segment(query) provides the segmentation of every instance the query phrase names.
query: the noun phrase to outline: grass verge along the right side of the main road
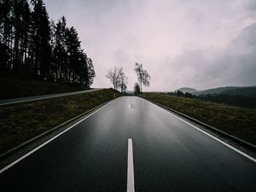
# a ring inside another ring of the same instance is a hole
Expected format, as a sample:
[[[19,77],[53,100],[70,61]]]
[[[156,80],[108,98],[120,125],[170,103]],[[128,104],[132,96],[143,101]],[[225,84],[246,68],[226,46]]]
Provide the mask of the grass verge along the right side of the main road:
[[[256,144],[256,109],[157,93],[146,93],[145,96],[148,100],[159,102],[230,135]]]

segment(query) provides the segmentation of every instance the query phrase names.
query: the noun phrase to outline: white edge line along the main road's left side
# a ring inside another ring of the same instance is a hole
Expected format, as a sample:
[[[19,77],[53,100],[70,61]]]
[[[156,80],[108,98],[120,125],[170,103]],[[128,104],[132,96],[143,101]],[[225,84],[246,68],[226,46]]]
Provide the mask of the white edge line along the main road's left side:
[[[113,102],[113,101],[112,101]],[[106,105],[104,105],[102,108],[106,108],[110,103],[112,102],[108,102]],[[32,149],[32,151],[28,152],[27,154],[24,154],[23,156],[21,156],[19,159],[15,160],[14,162],[10,163],[8,166],[3,167],[3,169],[0,170],[0,174],[5,172],[6,170],[8,170],[10,167],[15,166],[15,164],[19,163],[20,160],[24,160],[26,157],[28,157],[29,155],[33,154],[34,152],[36,152],[39,148],[43,148],[44,145],[50,143],[51,141],[55,140],[55,138],[60,137],[63,133],[69,131],[70,129],[72,129],[75,125],[78,125],[79,123],[81,123],[82,121],[84,121],[85,119],[89,118],[91,115],[97,113],[98,111],[102,110],[102,108],[97,109],[95,112],[90,113],[88,116],[86,116],[84,119],[79,120],[79,122],[75,123],[74,125],[71,125],[70,127],[68,127],[66,130],[62,131],[61,133],[59,133],[58,135],[56,135],[55,137],[50,138],[48,141],[46,141],[45,143],[39,145],[37,148]]]

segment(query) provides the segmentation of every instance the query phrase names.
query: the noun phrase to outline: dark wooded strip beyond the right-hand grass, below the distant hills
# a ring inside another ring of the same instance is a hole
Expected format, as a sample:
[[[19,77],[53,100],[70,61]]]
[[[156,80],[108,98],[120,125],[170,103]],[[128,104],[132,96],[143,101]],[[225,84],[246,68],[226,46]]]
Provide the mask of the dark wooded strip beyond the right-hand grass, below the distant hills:
[[[254,96],[241,96],[241,95],[229,95],[229,94],[205,94],[195,96],[191,93],[183,93],[180,90],[174,92],[166,92],[165,95],[169,96],[182,96],[186,98],[195,98],[208,102],[218,102],[229,105],[236,105],[243,108],[256,108],[256,95]]]

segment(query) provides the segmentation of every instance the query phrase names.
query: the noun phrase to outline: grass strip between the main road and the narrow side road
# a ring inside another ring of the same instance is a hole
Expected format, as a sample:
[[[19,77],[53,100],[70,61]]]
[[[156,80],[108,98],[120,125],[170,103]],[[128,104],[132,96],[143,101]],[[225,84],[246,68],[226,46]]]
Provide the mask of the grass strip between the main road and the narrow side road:
[[[0,154],[121,94],[113,89],[0,107]]]

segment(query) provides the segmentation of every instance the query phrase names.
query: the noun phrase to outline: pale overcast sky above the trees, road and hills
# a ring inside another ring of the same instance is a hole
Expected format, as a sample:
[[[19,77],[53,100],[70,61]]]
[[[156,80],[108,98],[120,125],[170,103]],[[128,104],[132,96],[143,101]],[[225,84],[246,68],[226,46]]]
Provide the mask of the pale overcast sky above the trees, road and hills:
[[[151,76],[144,90],[256,85],[256,0],[44,0],[67,18],[92,58],[92,87],[111,87],[109,68],[135,62]]]

